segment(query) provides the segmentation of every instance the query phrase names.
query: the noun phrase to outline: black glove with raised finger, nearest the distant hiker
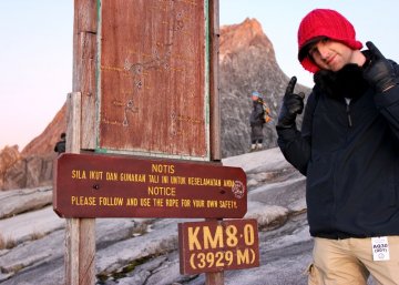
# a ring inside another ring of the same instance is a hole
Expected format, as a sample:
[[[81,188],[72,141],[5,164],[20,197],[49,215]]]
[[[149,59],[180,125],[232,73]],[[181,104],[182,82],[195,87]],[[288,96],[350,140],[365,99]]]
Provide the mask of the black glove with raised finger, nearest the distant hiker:
[[[276,128],[289,129],[296,126],[295,119],[297,114],[304,111],[304,98],[303,92],[294,94],[294,88],[296,84],[296,77],[293,77],[287,85],[286,93],[283,98],[283,105],[278,114],[278,121]]]

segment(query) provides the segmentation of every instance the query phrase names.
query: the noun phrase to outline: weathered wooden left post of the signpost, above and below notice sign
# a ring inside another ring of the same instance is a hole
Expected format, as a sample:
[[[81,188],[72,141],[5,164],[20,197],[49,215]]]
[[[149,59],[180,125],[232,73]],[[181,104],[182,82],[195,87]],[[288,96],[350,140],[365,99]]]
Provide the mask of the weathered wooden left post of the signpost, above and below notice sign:
[[[66,152],[71,153],[93,149],[95,142],[96,3],[74,0],[73,92],[68,94],[66,119]],[[65,284],[95,284],[94,257],[95,218],[66,218]]]

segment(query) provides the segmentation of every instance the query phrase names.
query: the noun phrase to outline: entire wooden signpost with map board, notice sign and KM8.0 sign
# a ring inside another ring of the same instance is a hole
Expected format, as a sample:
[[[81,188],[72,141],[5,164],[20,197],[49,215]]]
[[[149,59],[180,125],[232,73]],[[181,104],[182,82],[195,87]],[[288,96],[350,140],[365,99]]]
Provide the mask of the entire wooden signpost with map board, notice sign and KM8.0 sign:
[[[96,217],[178,225],[182,274],[258,266],[246,176],[219,161],[218,0],[74,0],[73,88],[53,207],[65,283],[95,283]],[[205,257],[205,259],[204,259]]]

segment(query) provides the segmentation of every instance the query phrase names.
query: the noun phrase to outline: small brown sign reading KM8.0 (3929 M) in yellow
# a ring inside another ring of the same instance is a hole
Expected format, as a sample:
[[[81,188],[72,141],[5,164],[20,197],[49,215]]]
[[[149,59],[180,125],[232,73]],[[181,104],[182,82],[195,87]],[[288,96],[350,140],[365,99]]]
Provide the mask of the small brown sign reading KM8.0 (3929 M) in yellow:
[[[256,220],[181,223],[178,244],[182,274],[259,266]]]

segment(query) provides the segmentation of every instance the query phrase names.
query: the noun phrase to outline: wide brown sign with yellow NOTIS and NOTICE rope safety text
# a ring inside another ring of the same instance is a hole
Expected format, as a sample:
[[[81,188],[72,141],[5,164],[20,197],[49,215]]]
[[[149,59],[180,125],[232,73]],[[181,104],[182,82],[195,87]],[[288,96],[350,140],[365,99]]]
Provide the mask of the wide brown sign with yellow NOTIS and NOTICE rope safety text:
[[[132,156],[64,153],[53,208],[62,217],[243,217],[239,167]]]

